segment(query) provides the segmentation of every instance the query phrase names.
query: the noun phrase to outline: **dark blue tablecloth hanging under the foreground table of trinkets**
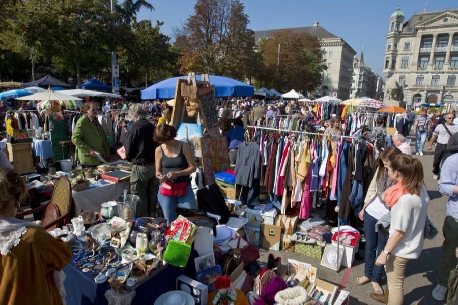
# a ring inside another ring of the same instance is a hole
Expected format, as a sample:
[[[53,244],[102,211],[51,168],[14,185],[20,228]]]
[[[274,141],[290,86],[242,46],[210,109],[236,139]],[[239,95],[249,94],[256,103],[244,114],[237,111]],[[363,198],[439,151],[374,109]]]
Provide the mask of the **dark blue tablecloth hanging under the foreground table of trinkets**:
[[[197,251],[193,250],[184,268],[168,266],[156,275],[142,280],[135,287],[135,297],[132,304],[144,305],[153,304],[154,301],[163,293],[175,290],[177,277],[184,274],[190,278],[195,277],[194,258],[198,256]],[[65,292],[67,293],[68,305],[85,305],[85,304],[108,304],[105,298],[105,292],[111,288],[110,284],[96,284],[91,272],[84,273],[80,268],[74,267],[73,260],[64,268],[66,279],[64,281]]]

